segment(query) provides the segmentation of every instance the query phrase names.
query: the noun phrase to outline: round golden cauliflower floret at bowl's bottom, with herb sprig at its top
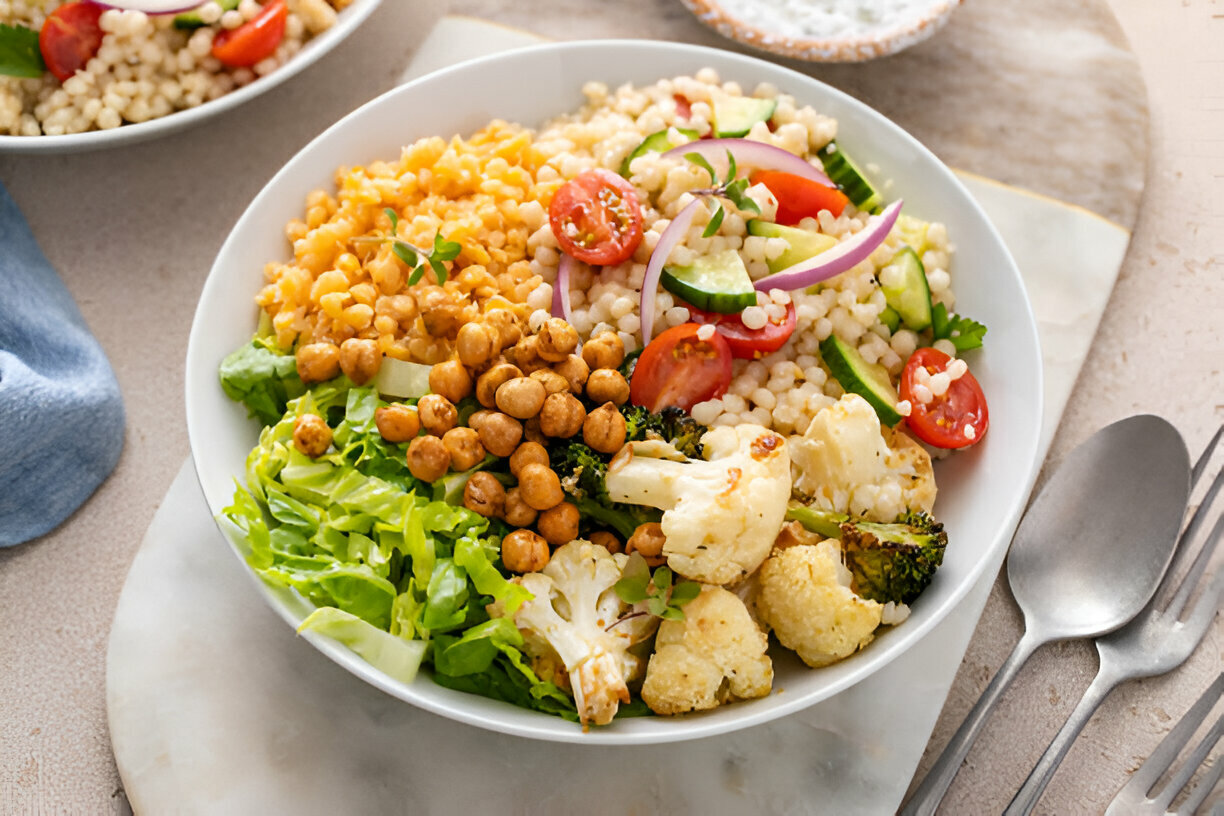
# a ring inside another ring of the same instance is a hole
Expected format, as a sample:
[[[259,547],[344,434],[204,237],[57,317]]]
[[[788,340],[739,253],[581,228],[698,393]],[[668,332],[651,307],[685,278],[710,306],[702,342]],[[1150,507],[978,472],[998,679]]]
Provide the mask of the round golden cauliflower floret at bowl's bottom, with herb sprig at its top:
[[[764,697],[774,685],[767,646],[743,601],[705,586],[684,606],[684,620],[659,626],[641,699],[656,714],[681,714]]]

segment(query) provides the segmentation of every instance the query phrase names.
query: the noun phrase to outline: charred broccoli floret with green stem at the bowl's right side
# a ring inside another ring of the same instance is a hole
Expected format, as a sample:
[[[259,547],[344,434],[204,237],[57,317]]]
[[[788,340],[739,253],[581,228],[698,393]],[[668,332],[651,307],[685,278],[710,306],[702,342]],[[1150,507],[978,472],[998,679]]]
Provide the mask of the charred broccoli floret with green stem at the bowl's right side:
[[[826,538],[840,538],[852,588],[880,603],[909,603],[944,562],[947,533],[925,513],[907,513],[892,524],[862,521],[841,513],[792,503],[787,519]]]

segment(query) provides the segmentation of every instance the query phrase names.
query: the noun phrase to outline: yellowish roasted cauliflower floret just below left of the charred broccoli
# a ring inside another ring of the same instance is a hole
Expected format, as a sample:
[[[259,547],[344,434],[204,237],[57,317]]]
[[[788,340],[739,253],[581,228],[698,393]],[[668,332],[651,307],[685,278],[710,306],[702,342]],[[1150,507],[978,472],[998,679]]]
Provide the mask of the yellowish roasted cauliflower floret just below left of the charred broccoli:
[[[776,549],[761,564],[756,612],[778,642],[818,668],[871,642],[884,607],[851,591],[836,541],[810,540],[816,543]]]

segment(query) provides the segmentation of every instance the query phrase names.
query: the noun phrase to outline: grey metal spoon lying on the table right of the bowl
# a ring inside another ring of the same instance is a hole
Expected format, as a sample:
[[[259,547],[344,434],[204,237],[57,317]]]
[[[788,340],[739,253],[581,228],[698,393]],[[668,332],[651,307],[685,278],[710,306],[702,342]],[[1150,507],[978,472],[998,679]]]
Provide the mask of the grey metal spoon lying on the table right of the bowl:
[[[1095,637],[1138,614],[1169,564],[1189,498],[1186,443],[1157,416],[1102,428],[1062,460],[1007,555],[1024,635],[901,816],[935,812],[990,710],[1039,646]]]

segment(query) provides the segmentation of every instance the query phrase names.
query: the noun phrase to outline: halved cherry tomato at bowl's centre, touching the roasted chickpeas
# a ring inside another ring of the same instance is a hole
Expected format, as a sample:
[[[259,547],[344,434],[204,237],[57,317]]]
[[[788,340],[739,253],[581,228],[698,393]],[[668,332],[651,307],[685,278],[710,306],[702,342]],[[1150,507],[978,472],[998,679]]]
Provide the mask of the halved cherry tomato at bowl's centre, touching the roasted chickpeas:
[[[673,325],[651,340],[638,357],[629,380],[629,401],[654,412],[674,405],[688,411],[727,393],[731,346],[717,332],[696,335],[696,323]]]

